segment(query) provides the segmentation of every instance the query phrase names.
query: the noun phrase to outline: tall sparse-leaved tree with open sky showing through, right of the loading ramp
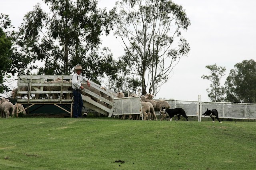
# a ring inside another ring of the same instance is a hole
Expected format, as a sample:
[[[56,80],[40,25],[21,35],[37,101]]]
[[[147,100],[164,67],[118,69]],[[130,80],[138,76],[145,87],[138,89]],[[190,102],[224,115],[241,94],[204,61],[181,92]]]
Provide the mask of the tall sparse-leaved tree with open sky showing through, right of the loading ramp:
[[[182,6],[170,0],[120,0],[111,12],[126,54],[127,71],[142,83],[142,94],[157,93],[190,47],[180,29],[190,25]],[[174,44],[177,44],[175,47]]]

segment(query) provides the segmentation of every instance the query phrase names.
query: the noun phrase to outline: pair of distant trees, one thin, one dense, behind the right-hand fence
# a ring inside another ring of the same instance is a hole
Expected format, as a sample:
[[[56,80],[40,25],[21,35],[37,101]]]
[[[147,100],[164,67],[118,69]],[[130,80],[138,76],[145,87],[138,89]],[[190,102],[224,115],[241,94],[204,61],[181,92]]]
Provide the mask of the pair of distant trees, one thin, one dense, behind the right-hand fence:
[[[256,62],[253,59],[237,63],[230,70],[225,86],[220,79],[226,68],[216,64],[207,65],[210,75],[201,78],[210,80],[210,88],[206,89],[212,102],[256,103]]]

